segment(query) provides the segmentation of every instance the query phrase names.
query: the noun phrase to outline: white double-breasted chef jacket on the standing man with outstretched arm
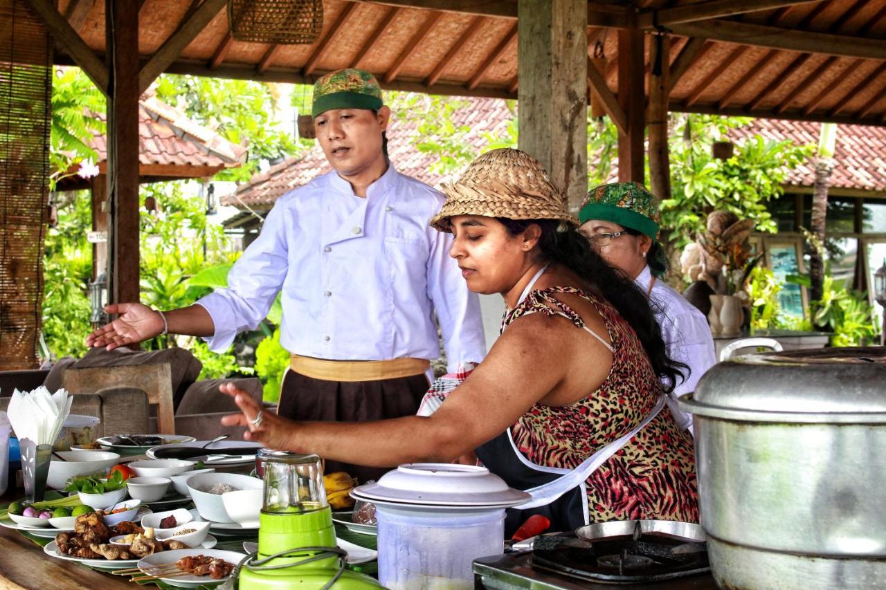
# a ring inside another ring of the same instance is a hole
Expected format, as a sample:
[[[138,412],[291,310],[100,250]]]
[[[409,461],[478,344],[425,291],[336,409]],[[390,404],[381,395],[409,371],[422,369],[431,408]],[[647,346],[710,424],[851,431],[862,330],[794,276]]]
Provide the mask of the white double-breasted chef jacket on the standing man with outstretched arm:
[[[335,172],[278,198],[228,288],[200,299],[226,350],[254,330],[282,289],[280,343],[338,361],[436,359],[434,312],[448,370],[486,353],[477,295],[449,257],[451,234],[428,225],[444,198],[392,165],[366,198]]]

